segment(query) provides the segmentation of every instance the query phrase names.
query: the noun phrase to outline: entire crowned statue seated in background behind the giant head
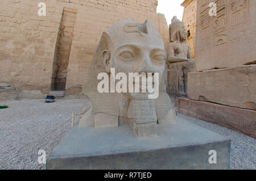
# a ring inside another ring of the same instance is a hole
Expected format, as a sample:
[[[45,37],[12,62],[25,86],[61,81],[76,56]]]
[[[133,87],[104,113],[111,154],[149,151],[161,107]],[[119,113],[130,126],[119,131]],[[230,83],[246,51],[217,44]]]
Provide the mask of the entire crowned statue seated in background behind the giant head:
[[[195,68],[191,59],[191,48],[186,42],[187,31],[176,16],[170,24],[170,41],[167,45],[168,85],[167,92],[171,95],[187,95],[188,73]]]

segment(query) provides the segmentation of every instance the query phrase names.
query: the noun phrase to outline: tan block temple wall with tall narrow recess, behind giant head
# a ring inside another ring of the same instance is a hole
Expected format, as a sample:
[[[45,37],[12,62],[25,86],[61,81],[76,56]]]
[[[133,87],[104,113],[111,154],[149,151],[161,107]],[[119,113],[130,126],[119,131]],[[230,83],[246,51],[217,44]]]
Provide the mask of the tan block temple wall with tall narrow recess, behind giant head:
[[[46,16],[38,15],[39,2],[46,3]],[[101,33],[114,22],[148,19],[168,43],[166,19],[156,7],[155,0],[0,1],[0,82],[47,94],[61,66],[66,92],[77,94]]]

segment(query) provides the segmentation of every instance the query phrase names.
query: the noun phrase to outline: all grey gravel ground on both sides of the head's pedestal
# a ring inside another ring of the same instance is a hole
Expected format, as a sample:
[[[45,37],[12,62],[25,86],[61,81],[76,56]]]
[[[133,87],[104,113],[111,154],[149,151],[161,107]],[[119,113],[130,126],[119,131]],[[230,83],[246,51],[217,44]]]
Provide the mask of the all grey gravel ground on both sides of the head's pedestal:
[[[72,112],[75,120],[85,99],[57,99],[44,103],[43,99],[4,100],[0,105],[0,169],[46,169],[38,163],[38,150],[49,155],[71,128]],[[256,141],[228,128],[179,115],[185,119],[232,140],[232,169],[256,169]]]

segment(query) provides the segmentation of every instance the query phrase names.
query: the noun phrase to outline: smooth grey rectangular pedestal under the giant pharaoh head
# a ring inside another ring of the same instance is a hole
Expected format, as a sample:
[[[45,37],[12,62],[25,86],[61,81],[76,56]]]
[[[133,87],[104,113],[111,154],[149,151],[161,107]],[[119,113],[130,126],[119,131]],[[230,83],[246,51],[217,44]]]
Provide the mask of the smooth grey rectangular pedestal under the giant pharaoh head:
[[[73,127],[47,158],[47,169],[229,169],[230,140],[188,121],[159,125],[138,139],[131,127]],[[216,150],[217,163],[209,163]]]

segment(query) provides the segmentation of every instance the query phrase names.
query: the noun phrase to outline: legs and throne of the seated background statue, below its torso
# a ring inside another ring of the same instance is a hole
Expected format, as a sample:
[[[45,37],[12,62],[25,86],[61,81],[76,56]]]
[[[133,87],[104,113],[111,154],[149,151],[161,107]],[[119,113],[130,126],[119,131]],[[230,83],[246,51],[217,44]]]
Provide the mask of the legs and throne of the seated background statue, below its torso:
[[[176,62],[169,65],[167,92],[171,95],[187,95],[188,73],[195,71],[195,61]]]

